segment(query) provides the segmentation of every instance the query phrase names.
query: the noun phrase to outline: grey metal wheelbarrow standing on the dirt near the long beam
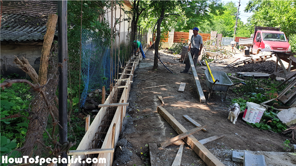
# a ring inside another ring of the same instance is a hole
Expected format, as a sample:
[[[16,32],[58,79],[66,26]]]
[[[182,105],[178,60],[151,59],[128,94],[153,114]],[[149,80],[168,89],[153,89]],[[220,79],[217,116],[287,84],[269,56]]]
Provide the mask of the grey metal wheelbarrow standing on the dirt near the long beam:
[[[221,100],[223,102],[226,99],[227,91],[230,86],[240,84],[240,83],[246,85],[246,83],[243,83],[243,82],[233,84],[231,80],[227,77],[227,74],[222,71],[212,70],[212,74],[214,76],[215,82],[213,82],[213,79],[211,77],[209,70],[205,70],[205,75],[207,78],[207,86],[209,87],[209,98],[208,98],[209,101],[211,100],[212,93],[215,91],[220,91]],[[223,93],[225,93],[224,97],[222,96]]]

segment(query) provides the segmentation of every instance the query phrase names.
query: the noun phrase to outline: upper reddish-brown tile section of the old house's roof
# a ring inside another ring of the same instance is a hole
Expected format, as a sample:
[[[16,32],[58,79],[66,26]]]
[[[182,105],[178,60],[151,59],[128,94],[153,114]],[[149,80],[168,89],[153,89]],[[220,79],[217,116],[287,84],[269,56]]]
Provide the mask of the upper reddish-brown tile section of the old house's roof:
[[[21,14],[24,16],[40,16],[56,14],[57,0],[2,0],[3,14]]]

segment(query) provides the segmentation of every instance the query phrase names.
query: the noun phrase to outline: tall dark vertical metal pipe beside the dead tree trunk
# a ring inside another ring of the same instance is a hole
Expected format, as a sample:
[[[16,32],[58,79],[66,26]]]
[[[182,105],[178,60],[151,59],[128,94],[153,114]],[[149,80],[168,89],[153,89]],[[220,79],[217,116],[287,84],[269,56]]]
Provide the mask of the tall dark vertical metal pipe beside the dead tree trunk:
[[[68,141],[68,115],[67,115],[67,0],[58,0],[58,50],[59,62],[59,140],[60,143]],[[62,153],[62,158],[67,158],[66,153]],[[67,164],[59,164],[67,166]]]

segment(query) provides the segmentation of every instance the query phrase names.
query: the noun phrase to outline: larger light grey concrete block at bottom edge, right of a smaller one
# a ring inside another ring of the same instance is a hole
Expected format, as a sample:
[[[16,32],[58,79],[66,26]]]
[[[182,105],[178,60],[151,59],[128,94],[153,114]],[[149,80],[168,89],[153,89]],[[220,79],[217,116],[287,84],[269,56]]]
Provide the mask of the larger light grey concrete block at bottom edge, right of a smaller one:
[[[244,166],[266,166],[264,156],[253,155],[248,151],[245,151]]]

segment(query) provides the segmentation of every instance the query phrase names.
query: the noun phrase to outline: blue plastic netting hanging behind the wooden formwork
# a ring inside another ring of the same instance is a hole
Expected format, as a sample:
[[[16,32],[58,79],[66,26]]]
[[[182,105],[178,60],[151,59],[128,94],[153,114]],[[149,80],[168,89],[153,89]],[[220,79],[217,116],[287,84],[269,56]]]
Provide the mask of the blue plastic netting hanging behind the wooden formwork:
[[[104,46],[104,38],[92,30],[82,30],[81,80],[84,89],[81,94],[81,107],[84,106],[89,92],[109,88],[110,84],[110,47]]]

